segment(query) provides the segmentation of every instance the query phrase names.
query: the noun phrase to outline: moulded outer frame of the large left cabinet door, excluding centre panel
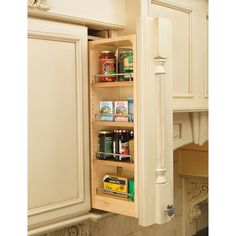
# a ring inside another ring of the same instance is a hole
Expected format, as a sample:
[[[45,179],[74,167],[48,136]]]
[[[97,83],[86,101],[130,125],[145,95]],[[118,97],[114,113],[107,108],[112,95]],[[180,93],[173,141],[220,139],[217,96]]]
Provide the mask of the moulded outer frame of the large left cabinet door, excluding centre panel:
[[[87,98],[87,29],[74,27],[68,30],[66,25],[35,21],[39,27],[29,27],[30,39],[50,40],[55,42],[73,43],[75,48],[75,94],[76,94],[76,145],[77,145],[77,197],[70,200],[55,202],[29,209],[29,227],[55,221],[56,218],[66,218],[69,215],[79,215],[90,210],[89,195],[89,155],[88,155],[88,98]],[[54,30],[55,24],[55,30]],[[53,30],[50,30],[51,29]],[[64,29],[63,29],[64,27]],[[70,26],[69,26],[70,27]],[[33,28],[33,30],[31,29]],[[44,30],[45,28],[45,30]],[[71,30],[71,32],[70,32]],[[78,30],[78,32],[76,32]],[[61,31],[61,32],[60,32]],[[73,34],[74,31],[75,33]],[[82,48],[83,47],[83,48]],[[83,63],[83,67],[82,67]],[[44,68],[42,68],[43,70]],[[82,115],[81,115],[82,114]],[[63,190],[62,190],[63,191]]]

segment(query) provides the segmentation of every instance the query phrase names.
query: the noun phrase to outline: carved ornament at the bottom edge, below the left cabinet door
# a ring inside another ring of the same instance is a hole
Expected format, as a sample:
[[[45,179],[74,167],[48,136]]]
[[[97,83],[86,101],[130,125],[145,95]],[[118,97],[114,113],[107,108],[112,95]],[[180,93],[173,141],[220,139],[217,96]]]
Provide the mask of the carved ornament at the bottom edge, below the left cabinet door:
[[[89,236],[89,230],[85,224],[71,225],[57,230],[55,236]]]

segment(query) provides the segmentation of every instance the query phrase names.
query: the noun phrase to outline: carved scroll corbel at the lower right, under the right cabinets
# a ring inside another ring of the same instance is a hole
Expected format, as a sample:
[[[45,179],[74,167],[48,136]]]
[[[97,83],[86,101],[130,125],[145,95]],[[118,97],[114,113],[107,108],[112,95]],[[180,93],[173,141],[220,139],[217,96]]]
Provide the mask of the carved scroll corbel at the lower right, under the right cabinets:
[[[201,215],[200,204],[208,200],[208,183],[193,183],[187,185],[188,208],[187,218],[190,223]]]

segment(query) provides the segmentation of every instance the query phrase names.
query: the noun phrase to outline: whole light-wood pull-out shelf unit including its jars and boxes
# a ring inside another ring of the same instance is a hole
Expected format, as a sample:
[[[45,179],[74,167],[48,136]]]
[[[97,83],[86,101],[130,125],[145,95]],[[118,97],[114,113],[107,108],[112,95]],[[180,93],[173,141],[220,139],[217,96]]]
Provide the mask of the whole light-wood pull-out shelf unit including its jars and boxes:
[[[135,42],[90,42],[90,146],[92,208],[138,217]]]

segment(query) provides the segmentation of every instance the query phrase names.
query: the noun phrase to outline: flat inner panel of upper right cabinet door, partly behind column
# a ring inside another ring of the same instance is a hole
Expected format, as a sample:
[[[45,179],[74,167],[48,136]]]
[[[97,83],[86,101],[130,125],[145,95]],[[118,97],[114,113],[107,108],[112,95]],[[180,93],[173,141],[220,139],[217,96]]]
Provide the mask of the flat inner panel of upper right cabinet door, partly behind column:
[[[190,20],[189,12],[160,5],[152,5],[151,15],[164,17],[172,23],[173,56],[173,95],[174,97],[191,96],[190,74]]]

